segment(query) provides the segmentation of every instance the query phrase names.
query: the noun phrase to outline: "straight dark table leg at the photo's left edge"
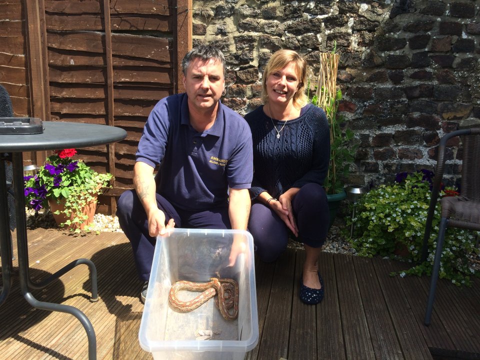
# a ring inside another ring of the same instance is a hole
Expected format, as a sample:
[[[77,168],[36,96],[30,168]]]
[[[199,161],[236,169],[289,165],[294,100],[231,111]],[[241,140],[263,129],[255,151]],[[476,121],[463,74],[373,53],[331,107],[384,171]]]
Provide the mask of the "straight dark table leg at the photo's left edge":
[[[0,255],[2,286],[0,305],[5,302],[11,287],[11,233],[8,219],[5,163],[0,158]]]

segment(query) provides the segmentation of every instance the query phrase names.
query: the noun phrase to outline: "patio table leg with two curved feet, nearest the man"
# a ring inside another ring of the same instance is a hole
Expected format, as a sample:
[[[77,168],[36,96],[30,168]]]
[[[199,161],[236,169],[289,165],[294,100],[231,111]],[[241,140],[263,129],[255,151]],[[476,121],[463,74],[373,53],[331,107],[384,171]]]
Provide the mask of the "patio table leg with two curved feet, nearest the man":
[[[90,320],[76,307],[70,305],[56,304],[51,302],[38,301],[33,297],[30,292],[29,285],[33,285],[34,288],[39,288],[39,284],[34,284],[30,280],[28,273],[28,244],[26,238],[26,219],[25,219],[25,201],[23,193],[23,160],[21,152],[13,153],[13,189],[15,193],[15,210],[16,210],[16,226],[17,226],[17,250],[18,250],[18,274],[20,289],[23,297],[26,301],[36,308],[41,308],[49,311],[66,312],[75,316],[83,325],[88,338],[88,359],[96,360],[96,336],[95,330],[91,325]],[[86,263],[91,271],[91,283],[92,283],[92,297],[97,298],[97,285],[96,285],[96,269],[93,262],[88,259],[79,259],[64,266],[53,275],[49,276],[41,284],[46,284],[51,281],[52,278],[60,276],[80,263]],[[93,290],[95,293],[93,293]]]

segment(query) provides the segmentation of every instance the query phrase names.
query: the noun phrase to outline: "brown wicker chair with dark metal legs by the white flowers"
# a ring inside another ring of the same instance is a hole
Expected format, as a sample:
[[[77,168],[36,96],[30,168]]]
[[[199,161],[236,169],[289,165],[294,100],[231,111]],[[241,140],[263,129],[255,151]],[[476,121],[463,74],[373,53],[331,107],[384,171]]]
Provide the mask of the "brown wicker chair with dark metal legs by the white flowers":
[[[455,136],[461,136],[463,144],[460,195],[447,196],[440,200],[441,218],[424,318],[425,325],[430,324],[446,227],[460,227],[480,231],[480,128],[469,128],[447,133],[440,140],[430,206],[423,236],[422,261],[426,260],[428,256],[428,238],[430,237],[433,213],[443,177],[446,142]]]

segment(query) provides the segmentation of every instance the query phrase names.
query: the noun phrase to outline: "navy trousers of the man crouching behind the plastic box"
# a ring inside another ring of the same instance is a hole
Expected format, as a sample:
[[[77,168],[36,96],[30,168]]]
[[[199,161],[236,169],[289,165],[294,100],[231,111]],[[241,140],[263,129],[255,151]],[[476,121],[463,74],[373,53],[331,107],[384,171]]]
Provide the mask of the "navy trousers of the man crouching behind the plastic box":
[[[167,199],[156,194],[158,208],[165,214],[165,224],[170,218],[175,227],[229,229],[228,206],[208,210],[186,211],[175,208]],[[135,190],[123,192],[116,208],[118,223],[130,240],[138,277],[148,281],[156,238],[148,234],[148,219]]]

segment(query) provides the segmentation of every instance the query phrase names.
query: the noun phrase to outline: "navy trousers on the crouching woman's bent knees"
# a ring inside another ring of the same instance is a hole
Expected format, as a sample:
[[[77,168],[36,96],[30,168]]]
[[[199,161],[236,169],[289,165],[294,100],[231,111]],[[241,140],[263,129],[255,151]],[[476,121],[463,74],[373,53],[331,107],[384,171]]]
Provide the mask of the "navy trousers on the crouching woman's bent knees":
[[[311,247],[322,246],[329,222],[323,186],[312,182],[303,185],[291,205],[299,240]],[[260,202],[251,206],[248,230],[253,236],[256,254],[262,261],[275,261],[288,243],[288,227],[275,211]]]

